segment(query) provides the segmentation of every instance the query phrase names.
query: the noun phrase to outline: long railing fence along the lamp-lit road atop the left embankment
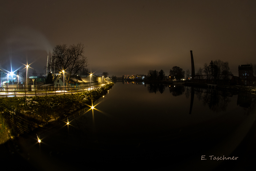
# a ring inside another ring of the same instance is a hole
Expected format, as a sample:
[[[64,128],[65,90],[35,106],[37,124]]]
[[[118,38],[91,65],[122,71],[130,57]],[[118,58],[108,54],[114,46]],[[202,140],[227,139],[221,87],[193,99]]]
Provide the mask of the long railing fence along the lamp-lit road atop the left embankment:
[[[0,97],[8,96],[44,96],[44,95],[57,95],[57,94],[73,94],[78,92],[90,91],[95,88],[109,84],[110,82],[105,82],[101,84],[94,85],[81,85],[81,86],[70,86],[70,87],[24,87],[24,88],[3,88],[0,87]]]

